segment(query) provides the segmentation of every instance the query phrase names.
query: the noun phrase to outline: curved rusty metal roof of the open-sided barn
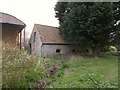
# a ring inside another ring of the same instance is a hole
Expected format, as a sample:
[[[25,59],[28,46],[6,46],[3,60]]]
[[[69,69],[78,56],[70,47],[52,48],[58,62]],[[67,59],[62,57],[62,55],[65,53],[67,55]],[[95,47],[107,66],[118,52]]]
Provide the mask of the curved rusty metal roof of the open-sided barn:
[[[24,27],[26,26],[25,23],[16,17],[2,12],[0,12],[0,23],[22,25]]]

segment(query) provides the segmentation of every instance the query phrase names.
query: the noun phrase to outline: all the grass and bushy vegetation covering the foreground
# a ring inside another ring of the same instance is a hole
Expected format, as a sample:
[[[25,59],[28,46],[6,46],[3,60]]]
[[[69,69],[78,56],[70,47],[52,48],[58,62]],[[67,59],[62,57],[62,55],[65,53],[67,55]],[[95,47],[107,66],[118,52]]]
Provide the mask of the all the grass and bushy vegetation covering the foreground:
[[[3,88],[117,88],[117,56],[39,58],[3,48]]]

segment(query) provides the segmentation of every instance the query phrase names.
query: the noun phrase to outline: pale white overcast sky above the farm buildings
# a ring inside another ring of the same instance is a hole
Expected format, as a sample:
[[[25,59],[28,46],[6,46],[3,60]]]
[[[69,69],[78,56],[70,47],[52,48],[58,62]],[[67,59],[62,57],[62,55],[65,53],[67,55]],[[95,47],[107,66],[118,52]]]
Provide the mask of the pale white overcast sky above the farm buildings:
[[[31,32],[34,24],[59,26],[54,7],[57,0],[0,0],[0,12],[10,14],[26,24]]]

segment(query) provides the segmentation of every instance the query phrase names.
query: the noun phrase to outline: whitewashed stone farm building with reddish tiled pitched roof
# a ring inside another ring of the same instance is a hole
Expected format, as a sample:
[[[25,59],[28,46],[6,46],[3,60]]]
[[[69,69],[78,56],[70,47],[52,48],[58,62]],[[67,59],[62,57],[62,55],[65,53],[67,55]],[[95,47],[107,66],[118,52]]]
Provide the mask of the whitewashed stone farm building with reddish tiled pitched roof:
[[[66,43],[56,27],[35,24],[30,40],[29,53],[43,57],[71,53],[72,46]]]

